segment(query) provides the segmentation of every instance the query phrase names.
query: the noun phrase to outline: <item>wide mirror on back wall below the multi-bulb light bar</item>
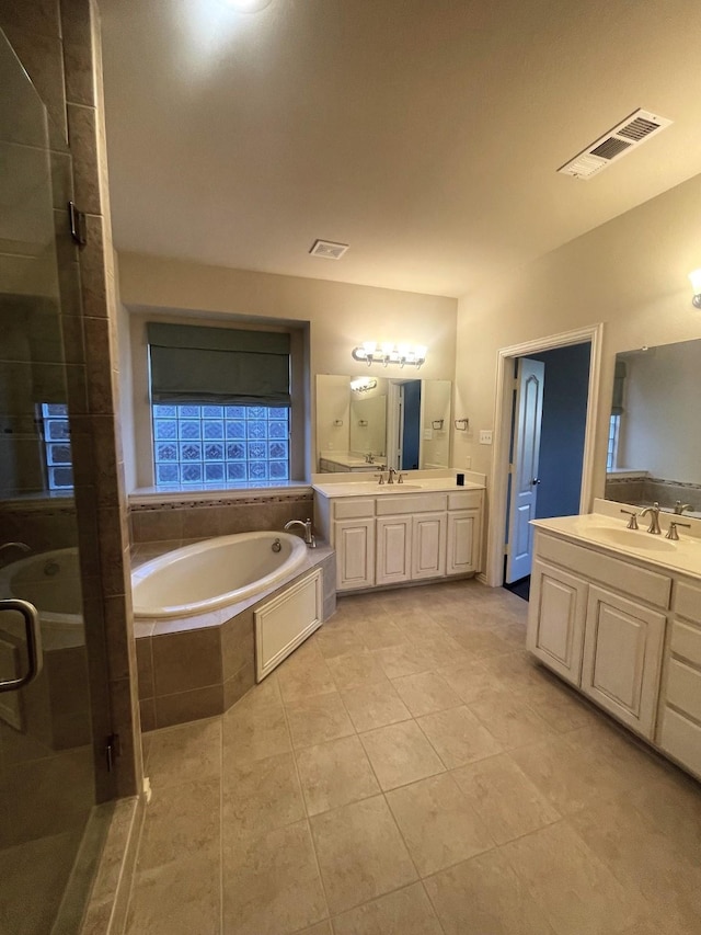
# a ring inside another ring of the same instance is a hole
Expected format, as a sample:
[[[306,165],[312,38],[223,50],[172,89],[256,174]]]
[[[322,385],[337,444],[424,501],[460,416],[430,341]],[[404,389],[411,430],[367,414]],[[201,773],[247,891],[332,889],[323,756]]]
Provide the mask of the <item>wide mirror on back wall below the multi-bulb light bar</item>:
[[[449,467],[450,400],[450,380],[320,374],[318,470]]]

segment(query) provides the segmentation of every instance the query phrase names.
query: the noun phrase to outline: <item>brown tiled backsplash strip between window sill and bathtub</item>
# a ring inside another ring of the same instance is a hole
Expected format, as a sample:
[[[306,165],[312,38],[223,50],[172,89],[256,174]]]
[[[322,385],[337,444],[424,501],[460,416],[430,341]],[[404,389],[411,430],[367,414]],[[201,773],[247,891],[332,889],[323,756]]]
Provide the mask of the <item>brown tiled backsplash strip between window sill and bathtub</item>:
[[[188,500],[186,495],[159,500],[158,495],[134,502],[129,509],[133,543],[208,539],[233,533],[281,529],[289,520],[314,515],[311,488],[286,493],[212,494]]]

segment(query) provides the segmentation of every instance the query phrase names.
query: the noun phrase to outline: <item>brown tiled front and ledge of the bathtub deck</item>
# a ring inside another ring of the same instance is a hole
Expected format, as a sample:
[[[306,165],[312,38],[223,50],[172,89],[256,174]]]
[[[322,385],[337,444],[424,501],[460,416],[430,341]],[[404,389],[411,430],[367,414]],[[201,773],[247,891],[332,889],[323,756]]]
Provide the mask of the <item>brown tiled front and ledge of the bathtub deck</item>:
[[[163,544],[137,546],[134,563],[168,550]],[[320,544],[307,550],[301,570],[284,585],[276,584],[232,607],[183,619],[137,622],[141,729],[210,717],[238,702],[255,683],[253,612],[319,567],[325,620],[335,611],[335,556]]]

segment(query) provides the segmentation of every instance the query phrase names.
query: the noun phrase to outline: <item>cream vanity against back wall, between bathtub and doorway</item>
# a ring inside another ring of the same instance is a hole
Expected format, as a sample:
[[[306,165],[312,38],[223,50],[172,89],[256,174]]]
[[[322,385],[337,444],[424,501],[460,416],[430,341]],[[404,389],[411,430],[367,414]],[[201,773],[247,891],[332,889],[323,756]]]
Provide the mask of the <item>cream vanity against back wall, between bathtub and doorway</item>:
[[[314,483],[317,529],[336,551],[340,593],[475,574],[484,488],[410,475],[404,483]]]

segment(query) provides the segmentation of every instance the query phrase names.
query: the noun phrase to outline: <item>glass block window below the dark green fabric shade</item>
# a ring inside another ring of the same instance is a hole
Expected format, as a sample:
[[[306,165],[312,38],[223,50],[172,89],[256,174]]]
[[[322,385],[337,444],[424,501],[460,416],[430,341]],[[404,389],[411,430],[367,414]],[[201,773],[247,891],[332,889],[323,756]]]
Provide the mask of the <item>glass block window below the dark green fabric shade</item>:
[[[151,407],[157,487],[289,480],[289,409]]]

